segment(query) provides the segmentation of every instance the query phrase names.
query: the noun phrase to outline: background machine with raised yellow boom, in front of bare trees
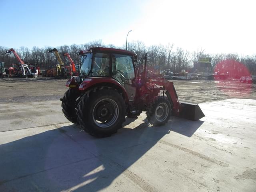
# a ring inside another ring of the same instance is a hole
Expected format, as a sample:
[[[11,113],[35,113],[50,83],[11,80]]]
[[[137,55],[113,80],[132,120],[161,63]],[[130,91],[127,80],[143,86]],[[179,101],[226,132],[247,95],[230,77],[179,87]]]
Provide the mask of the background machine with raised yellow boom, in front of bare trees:
[[[64,62],[62,61],[60,54],[58,53],[58,50],[56,48],[48,49],[48,53],[54,53],[58,64],[56,65],[56,68],[51,68],[46,71],[47,77],[55,77],[55,78],[66,78],[67,77],[67,70],[64,66]]]

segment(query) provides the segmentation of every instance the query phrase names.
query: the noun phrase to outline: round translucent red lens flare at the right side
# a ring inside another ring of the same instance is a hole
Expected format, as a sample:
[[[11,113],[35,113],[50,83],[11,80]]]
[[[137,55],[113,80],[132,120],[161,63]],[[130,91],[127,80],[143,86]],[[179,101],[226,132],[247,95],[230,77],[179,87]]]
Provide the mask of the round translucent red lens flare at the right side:
[[[214,80],[217,87],[233,98],[242,98],[252,92],[250,83],[240,82],[241,77],[250,76],[249,70],[236,60],[222,60],[214,69]]]

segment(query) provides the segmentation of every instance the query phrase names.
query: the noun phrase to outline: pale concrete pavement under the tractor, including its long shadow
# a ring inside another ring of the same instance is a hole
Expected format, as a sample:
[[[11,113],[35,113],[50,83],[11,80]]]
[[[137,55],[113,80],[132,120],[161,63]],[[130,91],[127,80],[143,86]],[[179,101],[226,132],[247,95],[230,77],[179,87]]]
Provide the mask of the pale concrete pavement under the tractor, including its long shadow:
[[[256,100],[202,103],[200,121],[172,117],[162,127],[143,113],[101,139],[66,123],[59,101],[32,105],[0,104],[1,192],[256,189]]]

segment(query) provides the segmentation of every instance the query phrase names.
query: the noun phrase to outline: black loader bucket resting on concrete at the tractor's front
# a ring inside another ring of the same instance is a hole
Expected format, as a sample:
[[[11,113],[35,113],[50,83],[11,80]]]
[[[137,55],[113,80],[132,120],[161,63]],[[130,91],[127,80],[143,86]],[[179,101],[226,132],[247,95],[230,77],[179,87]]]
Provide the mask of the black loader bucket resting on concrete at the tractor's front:
[[[180,102],[181,111],[178,117],[185,118],[192,121],[197,121],[204,117],[204,113],[198,106],[198,104]]]

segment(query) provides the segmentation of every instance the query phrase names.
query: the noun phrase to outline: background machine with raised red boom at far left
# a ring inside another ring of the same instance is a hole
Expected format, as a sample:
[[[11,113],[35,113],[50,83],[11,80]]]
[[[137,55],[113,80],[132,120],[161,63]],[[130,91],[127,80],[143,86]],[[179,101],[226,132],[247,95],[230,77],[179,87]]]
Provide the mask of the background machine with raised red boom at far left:
[[[5,52],[6,52],[5,54],[7,55],[14,54],[14,56],[19,62],[18,64],[12,64],[12,67],[9,68],[10,77],[17,76],[17,77],[28,78],[28,76],[30,76],[31,74],[28,64],[25,64],[21,60],[20,56],[17,54],[17,52],[13,48],[6,49]]]

